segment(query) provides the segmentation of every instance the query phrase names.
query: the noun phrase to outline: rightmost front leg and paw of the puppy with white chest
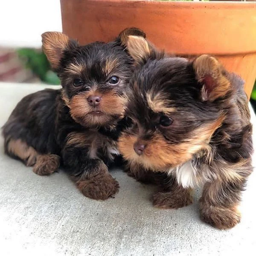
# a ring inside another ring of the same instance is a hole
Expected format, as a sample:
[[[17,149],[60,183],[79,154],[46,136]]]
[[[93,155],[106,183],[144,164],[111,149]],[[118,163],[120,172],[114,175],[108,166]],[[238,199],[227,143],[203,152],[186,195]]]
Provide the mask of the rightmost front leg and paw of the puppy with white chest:
[[[205,184],[199,201],[201,219],[219,229],[229,229],[238,224],[241,216],[237,207],[244,182],[217,180]]]

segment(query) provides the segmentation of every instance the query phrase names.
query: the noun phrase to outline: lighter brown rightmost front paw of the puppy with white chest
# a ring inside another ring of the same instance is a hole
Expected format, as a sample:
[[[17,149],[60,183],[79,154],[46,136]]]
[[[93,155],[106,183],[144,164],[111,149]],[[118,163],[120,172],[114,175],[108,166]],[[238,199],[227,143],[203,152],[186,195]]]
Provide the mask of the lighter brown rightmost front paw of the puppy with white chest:
[[[235,227],[241,220],[241,214],[236,208],[215,207],[212,205],[201,205],[201,220],[225,230]]]

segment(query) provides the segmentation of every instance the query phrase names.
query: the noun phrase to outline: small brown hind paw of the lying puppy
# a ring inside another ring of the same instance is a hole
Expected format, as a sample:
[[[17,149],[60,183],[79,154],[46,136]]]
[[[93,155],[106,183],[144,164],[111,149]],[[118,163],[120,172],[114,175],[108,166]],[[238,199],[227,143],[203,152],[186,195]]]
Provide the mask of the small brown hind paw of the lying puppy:
[[[50,175],[56,172],[60,165],[60,157],[55,154],[39,155],[33,167],[33,172],[38,175]]]

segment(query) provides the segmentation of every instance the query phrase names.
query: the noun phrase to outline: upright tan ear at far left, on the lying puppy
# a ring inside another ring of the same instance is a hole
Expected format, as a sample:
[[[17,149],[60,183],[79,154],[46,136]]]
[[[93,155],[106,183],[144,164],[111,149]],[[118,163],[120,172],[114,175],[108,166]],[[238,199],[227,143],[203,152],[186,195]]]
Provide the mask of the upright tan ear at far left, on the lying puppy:
[[[53,69],[58,68],[64,50],[68,49],[72,44],[77,44],[77,42],[70,40],[67,35],[61,32],[45,32],[41,37],[43,51]]]

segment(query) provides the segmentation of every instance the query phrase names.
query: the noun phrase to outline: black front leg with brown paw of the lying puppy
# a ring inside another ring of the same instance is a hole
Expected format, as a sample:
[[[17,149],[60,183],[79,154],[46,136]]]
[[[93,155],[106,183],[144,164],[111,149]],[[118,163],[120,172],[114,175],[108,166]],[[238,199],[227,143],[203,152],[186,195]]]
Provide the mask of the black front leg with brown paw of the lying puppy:
[[[108,173],[108,167],[102,160],[90,158],[88,147],[69,144],[64,147],[62,155],[64,166],[83,195],[106,200],[118,192],[118,182]]]

